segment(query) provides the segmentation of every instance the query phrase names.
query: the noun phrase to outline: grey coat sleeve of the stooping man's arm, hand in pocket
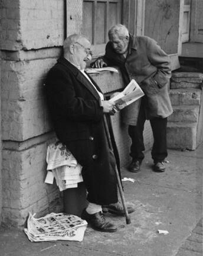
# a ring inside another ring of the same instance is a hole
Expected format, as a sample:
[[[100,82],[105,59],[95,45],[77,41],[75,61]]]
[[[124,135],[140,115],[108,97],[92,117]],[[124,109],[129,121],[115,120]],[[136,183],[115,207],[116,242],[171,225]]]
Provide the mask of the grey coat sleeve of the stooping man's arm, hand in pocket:
[[[161,49],[158,43],[153,39],[148,39],[147,54],[150,63],[157,68],[153,79],[161,88],[167,84],[171,77],[171,62],[169,56]]]

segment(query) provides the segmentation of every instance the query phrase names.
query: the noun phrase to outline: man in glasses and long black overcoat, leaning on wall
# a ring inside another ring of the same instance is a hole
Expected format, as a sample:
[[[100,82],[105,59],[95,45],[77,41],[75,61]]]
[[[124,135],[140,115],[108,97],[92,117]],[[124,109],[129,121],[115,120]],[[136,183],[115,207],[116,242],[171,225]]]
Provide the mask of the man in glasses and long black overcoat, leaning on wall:
[[[110,126],[109,114],[113,104],[95,82],[84,72],[91,60],[91,44],[78,34],[64,41],[64,56],[58,59],[47,75],[46,94],[55,133],[82,165],[89,204],[82,219],[103,232],[116,227],[104,219],[102,206],[116,215],[125,215],[118,203],[114,168],[119,168],[119,156]],[[107,119],[106,125],[104,119]],[[108,123],[108,124],[107,124]],[[110,150],[111,138],[113,151]],[[116,158],[115,158],[115,156]],[[127,207],[129,213],[134,209]]]

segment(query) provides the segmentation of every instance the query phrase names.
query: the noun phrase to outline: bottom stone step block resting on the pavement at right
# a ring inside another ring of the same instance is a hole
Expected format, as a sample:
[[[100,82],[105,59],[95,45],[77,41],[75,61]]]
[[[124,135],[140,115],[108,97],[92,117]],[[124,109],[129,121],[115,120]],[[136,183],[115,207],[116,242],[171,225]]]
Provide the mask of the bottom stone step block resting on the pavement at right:
[[[197,123],[169,122],[167,145],[171,149],[195,150],[197,148]]]

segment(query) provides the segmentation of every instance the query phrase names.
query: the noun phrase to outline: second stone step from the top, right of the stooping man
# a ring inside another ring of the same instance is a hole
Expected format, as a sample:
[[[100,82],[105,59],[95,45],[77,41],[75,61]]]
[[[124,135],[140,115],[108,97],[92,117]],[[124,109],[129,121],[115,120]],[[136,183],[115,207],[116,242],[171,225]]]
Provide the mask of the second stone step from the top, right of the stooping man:
[[[170,98],[172,105],[200,105],[201,89],[171,89]]]

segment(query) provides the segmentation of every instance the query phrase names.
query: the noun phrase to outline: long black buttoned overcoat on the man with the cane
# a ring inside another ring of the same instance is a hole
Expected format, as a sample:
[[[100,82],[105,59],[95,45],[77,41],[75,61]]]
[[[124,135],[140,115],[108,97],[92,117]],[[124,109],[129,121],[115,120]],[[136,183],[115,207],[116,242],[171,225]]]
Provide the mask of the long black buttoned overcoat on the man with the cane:
[[[87,200],[96,204],[116,203],[116,162],[109,149],[107,132],[110,132],[118,167],[119,159],[112,127],[109,124],[109,129],[105,129],[104,126],[103,108],[96,89],[76,66],[61,57],[48,72],[45,92],[58,139],[83,166]]]

